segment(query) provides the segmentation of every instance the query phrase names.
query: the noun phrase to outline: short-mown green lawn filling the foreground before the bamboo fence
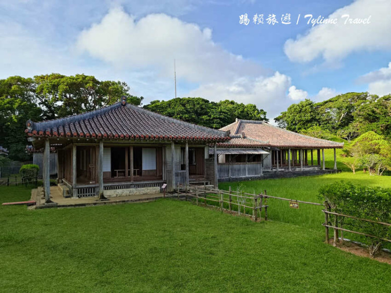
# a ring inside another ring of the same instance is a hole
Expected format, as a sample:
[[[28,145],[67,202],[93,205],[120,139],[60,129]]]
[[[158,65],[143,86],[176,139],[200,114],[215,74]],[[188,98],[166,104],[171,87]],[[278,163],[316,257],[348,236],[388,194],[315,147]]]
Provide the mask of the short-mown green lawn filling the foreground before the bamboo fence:
[[[29,196],[0,187],[2,202]],[[389,265],[324,244],[322,229],[188,202],[0,206],[0,225],[0,292],[391,292]]]

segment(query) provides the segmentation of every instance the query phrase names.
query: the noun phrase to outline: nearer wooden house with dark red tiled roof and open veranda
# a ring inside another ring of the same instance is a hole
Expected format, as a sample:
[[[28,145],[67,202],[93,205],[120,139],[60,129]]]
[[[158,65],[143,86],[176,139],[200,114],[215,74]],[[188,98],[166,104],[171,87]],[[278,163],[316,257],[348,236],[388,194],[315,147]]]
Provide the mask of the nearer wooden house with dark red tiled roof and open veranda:
[[[167,183],[209,180],[208,145],[229,140],[226,132],[120,103],[65,118],[26,122],[28,140],[43,148],[43,181],[50,202],[49,154],[58,154],[58,180],[74,198],[159,190]],[[212,182],[216,183],[216,182]]]

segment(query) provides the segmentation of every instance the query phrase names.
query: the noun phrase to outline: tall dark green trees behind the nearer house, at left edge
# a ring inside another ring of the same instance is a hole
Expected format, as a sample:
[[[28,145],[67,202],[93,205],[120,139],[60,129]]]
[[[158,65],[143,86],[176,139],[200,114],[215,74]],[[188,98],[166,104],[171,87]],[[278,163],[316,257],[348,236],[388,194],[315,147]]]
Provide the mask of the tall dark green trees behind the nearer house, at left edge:
[[[141,105],[143,97],[132,96],[129,90],[124,82],[99,81],[84,74],[1,79],[0,145],[8,148],[9,158],[28,159],[23,132],[28,119],[42,121],[95,110],[119,101],[123,95],[131,104]]]

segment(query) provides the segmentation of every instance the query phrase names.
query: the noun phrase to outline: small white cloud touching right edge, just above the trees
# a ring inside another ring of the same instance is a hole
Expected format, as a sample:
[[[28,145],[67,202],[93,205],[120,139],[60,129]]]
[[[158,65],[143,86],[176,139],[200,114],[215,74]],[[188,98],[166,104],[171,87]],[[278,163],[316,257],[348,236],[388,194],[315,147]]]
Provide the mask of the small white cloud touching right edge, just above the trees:
[[[379,96],[391,93],[391,62],[388,67],[371,71],[362,77],[359,82],[368,83],[368,91]]]

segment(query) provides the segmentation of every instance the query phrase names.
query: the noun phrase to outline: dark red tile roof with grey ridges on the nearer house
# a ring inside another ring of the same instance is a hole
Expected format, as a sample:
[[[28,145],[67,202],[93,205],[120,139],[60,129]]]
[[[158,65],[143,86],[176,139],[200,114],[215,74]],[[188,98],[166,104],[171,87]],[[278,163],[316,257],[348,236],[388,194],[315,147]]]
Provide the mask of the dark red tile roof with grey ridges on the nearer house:
[[[225,141],[226,132],[153,113],[126,102],[43,122],[26,122],[29,136]]]

